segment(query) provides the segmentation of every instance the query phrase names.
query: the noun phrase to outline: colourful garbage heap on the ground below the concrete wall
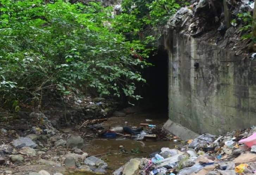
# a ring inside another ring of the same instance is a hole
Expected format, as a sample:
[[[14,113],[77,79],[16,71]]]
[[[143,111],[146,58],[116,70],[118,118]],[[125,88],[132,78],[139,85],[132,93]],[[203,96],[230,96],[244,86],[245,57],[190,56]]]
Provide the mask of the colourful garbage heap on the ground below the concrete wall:
[[[224,136],[202,134],[186,146],[162,148],[149,158],[131,159],[113,175],[256,174],[256,127]],[[255,132],[255,133],[254,133]]]

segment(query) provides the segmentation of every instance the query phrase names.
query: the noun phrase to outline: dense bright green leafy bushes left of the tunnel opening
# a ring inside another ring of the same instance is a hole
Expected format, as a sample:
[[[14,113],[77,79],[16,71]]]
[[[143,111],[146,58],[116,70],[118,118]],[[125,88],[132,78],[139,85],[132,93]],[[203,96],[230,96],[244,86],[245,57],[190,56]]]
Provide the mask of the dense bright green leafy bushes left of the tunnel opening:
[[[139,99],[135,83],[145,82],[140,70],[150,65],[146,46],[155,38],[137,41],[136,36],[164,23],[179,5],[124,0],[125,13],[113,17],[112,7],[95,2],[50,2],[0,0],[0,107],[38,104],[46,89],[70,93],[82,88]]]

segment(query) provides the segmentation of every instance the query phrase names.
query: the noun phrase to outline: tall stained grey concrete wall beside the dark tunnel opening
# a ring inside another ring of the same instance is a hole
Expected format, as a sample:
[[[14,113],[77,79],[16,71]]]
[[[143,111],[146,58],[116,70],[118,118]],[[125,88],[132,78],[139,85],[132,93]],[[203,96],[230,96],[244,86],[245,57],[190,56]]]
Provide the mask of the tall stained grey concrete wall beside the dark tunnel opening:
[[[256,125],[256,59],[175,31],[170,36],[169,118],[197,133]]]

